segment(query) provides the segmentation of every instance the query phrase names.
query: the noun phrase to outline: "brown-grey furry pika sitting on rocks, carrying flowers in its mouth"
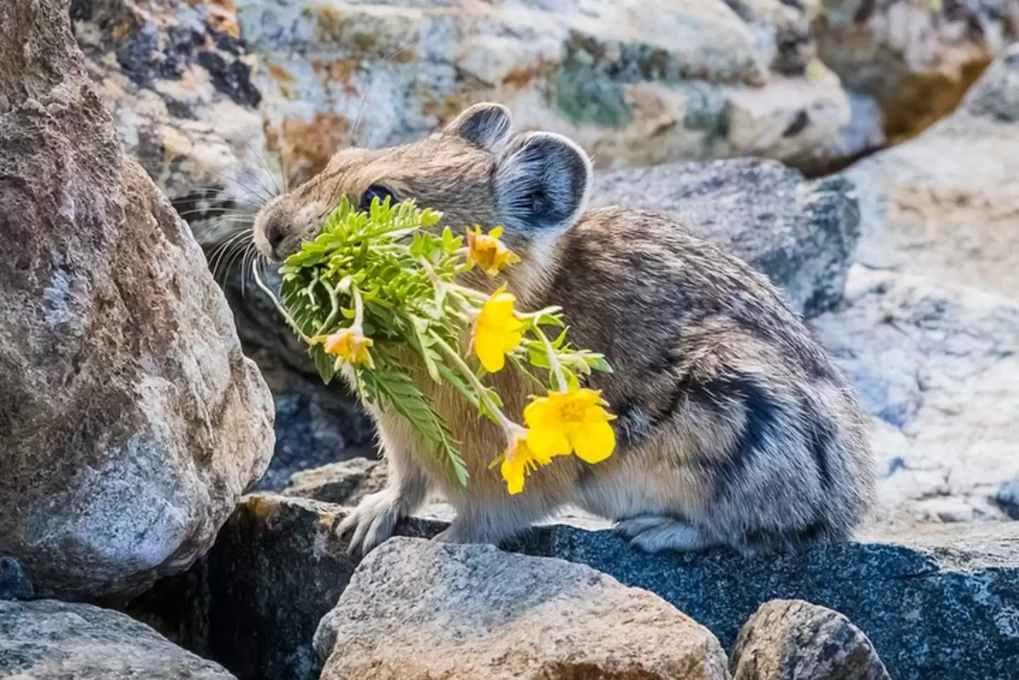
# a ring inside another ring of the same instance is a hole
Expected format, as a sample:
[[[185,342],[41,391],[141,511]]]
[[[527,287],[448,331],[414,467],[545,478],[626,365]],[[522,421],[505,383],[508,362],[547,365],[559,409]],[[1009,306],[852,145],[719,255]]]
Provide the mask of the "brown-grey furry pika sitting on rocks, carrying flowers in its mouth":
[[[867,421],[779,290],[653,212],[586,210],[591,178],[573,141],[515,131],[504,107],[479,104],[420,141],[339,151],[256,216],[256,246],[272,262],[317,235],[344,196],[362,208],[414,199],[453,228],[502,225],[522,260],[504,272],[521,308],[560,305],[571,341],[613,367],[586,385],[618,416],[613,455],[557,458],[514,496],[488,468],[502,431],[452,388],[419,381],[461,442],[466,489],[403,420],[370,409],[389,481],[341,523],[353,552],[386,540],[432,490],[457,510],[437,536],[454,543],[498,544],[564,505],[613,521],[648,552],[846,540],[866,515]],[[519,419],[531,387],[512,371],[491,379]]]

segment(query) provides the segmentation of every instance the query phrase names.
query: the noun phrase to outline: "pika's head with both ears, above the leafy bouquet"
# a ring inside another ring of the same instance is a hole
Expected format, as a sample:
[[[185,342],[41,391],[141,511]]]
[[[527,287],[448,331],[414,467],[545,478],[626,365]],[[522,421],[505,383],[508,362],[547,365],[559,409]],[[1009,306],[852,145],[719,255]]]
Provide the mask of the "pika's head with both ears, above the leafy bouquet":
[[[550,132],[515,133],[505,107],[478,104],[421,141],[338,152],[319,175],[259,212],[255,245],[281,262],[318,234],[344,197],[367,210],[375,196],[392,196],[441,212],[440,224],[461,234],[502,225],[504,240],[527,262],[573,226],[590,184],[591,162],[576,144]]]

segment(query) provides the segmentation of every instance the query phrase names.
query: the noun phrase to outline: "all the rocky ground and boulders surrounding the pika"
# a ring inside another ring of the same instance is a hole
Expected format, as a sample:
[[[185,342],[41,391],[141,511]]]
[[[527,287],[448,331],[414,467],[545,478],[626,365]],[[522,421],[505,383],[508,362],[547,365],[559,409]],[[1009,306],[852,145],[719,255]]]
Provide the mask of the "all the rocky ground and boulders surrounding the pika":
[[[1017,36],[1019,0],[7,0],[0,677],[1012,677]],[[371,423],[230,264],[336,148],[481,100],[786,291],[871,416],[857,541],[442,546],[435,498],[346,555]]]

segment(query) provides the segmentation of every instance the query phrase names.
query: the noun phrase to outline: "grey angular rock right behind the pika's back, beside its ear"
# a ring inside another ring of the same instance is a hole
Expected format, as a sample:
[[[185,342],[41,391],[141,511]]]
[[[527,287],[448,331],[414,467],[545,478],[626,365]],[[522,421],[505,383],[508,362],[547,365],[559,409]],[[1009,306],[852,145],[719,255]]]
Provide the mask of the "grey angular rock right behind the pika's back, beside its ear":
[[[848,182],[804,181],[774,161],[616,170],[595,176],[592,195],[594,207],[645,208],[686,224],[766,274],[807,317],[842,298],[859,236]]]

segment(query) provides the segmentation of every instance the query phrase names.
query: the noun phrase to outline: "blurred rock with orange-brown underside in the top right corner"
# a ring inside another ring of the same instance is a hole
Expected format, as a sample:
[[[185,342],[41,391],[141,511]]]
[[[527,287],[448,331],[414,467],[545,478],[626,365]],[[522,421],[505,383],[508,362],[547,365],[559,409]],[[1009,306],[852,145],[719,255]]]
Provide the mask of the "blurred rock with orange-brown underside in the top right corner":
[[[851,91],[881,105],[893,143],[950,113],[1017,38],[1014,0],[821,0],[817,53]]]

